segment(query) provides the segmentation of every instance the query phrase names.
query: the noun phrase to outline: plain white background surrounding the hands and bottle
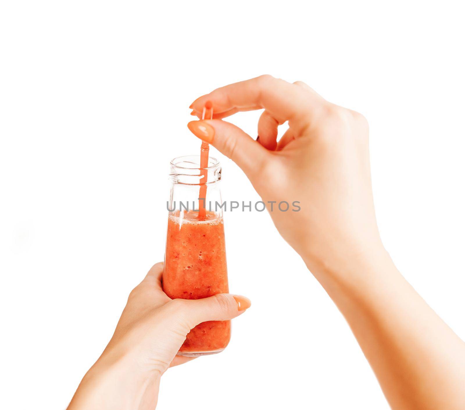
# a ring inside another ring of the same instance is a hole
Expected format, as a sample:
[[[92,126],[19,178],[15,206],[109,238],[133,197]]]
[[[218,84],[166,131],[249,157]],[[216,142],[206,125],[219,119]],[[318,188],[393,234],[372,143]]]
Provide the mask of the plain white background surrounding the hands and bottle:
[[[168,163],[199,151],[189,104],[264,73],[365,115],[385,246],[464,338],[458,3],[2,1],[0,408],[66,408],[163,259]],[[258,117],[231,121],[255,138]],[[258,200],[213,156],[224,199]],[[230,289],[252,308],[225,352],[166,372],[159,409],[388,409],[269,215],[225,224]]]

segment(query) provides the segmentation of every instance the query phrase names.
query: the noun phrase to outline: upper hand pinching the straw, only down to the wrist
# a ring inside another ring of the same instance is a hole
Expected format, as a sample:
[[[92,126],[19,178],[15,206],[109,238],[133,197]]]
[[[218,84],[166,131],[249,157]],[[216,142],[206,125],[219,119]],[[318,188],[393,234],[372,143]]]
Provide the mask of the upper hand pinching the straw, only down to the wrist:
[[[206,101],[213,104],[214,119],[192,121],[189,129],[242,168],[280,234],[313,273],[322,267],[339,269],[353,254],[382,251],[368,125],[361,114],[326,101],[302,82],[268,75],[196,99],[192,114],[200,117]],[[259,142],[219,120],[262,108]],[[278,126],[286,121],[289,129],[277,143]],[[279,210],[281,201],[289,204],[286,212]],[[299,201],[299,212],[292,211],[294,201]]]

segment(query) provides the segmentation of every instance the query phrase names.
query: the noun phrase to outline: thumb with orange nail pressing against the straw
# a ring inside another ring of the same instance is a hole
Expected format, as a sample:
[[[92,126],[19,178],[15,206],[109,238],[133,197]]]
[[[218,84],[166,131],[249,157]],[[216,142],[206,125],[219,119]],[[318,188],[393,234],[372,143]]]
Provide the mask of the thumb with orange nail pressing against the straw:
[[[229,122],[220,119],[191,121],[187,127],[196,137],[232,159],[252,182],[269,159],[266,148]]]

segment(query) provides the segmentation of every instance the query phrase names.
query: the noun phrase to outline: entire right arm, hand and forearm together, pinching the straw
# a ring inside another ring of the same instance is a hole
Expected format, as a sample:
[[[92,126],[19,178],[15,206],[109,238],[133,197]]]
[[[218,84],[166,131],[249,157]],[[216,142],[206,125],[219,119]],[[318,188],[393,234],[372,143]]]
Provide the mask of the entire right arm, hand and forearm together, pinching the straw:
[[[301,82],[270,76],[218,88],[196,99],[192,114],[200,117],[206,101],[215,119],[189,129],[246,173],[281,235],[347,319],[392,408],[465,409],[465,344],[381,244],[363,116]],[[220,120],[257,109],[265,109],[259,142]],[[301,210],[281,212],[281,201],[299,201]]]

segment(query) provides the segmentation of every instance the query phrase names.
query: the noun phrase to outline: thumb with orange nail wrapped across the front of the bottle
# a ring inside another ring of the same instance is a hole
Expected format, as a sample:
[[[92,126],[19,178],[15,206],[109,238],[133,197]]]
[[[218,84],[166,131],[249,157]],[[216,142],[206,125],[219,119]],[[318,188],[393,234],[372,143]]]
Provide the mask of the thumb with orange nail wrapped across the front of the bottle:
[[[244,313],[251,305],[244,296],[219,293],[205,299],[183,299],[187,322],[191,329],[209,320],[230,320]]]

